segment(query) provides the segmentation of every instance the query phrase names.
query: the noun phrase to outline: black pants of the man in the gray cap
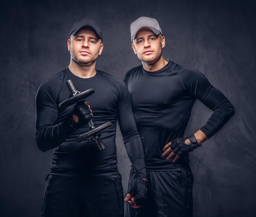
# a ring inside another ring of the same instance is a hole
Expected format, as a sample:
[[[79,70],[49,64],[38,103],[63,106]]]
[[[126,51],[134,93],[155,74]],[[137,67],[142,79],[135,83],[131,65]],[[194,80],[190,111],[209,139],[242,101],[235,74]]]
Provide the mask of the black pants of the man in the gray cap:
[[[147,200],[141,208],[126,203],[126,217],[192,217],[193,174],[190,169],[180,171],[148,171]],[[131,171],[128,190],[136,182]]]

